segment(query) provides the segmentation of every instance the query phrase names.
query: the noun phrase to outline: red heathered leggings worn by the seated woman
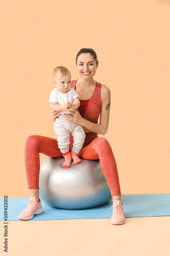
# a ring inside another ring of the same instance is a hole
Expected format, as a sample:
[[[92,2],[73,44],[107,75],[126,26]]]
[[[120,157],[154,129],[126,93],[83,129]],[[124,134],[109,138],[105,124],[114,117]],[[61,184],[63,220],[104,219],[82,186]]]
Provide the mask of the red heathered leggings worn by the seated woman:
[[[27,173],[28,189],[39,189],[39,153],[49,157],[63,157],[60,149],[58,148],[56,139],[40,135],[29,136],[25,143],[25,168]],[[99,159],[103,175],[107,180],[111,192],[111,196],[121,195],[116,161],[111,146],[106,138],[96,137],[87,146],[82,148],[78,156],[80,158],[89,160]]]

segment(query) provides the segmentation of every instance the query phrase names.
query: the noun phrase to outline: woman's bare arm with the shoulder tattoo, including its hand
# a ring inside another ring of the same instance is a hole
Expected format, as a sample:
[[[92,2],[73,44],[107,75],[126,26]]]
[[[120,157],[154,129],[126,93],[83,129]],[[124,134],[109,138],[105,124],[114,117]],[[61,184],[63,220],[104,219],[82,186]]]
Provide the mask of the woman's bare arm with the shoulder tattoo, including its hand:
[[[108,131],[108,126],[109,126],[111,97],[110,97],[110,89],[104,84],[101,85],[100,102],[101,102],[101,111],[100,111],[99,124],[92,123],[82,118],[79,111],[76,109],[73,109],[75,113],[73,113],[72,111],[69,111],[73,115],[72,120],[68,120],[68,119],[66,120],[69,122],[80,124],[91,132],[105,135]],[[64,114],[64,115],[68,116],[67,114]]]

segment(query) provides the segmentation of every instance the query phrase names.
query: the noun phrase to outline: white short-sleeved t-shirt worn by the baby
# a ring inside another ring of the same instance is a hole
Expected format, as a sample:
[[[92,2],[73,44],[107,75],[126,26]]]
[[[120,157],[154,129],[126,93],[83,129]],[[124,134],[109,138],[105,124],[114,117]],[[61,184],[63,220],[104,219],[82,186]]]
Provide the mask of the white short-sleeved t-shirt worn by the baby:
[[[67,100],[70,103],[72,103],[73,100],[77,97],[80,97],[80,96],[77,94],[77,92],[73,88],[70,88],[70,90],[67,91],[67,94],[63,94],[62,92],[59,92],[59,90],[57,90],[57,88],[55,88],[53,91],[50,92],[49,103],[56,102],[59,105],[63,105]],[[73,111],[72,109],[70,109],[70,110]],[[66,110],[63,110],[60,113],[68,114],[68,112]]]

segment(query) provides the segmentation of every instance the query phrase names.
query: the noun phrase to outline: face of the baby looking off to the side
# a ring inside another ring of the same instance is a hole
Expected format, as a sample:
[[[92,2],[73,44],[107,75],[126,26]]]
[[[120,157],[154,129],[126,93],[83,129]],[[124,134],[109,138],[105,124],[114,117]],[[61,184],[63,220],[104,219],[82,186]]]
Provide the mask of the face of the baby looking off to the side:
[[[62,77],[62,74],[57,72],[53,84],[57,86],[60,92],[67,94],[67,91],[71,88],[71,74],[67,72],[66,75]]]

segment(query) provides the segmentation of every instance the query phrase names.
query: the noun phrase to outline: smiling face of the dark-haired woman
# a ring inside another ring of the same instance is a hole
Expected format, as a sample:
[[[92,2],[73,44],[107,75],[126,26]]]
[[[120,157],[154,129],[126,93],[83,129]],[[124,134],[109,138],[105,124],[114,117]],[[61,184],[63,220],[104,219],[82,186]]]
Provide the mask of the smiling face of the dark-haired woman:
[[[77,59],[76,67],[82,78],[89,79],[94,76],[98,65],[90,53],[82,53]]]

